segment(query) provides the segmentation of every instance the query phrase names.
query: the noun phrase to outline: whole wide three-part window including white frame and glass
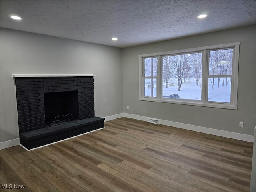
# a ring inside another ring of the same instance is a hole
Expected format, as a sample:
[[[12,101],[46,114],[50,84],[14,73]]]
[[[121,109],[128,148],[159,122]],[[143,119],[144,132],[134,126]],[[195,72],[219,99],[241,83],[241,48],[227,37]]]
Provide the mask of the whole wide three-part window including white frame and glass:
[[[140,100],[237,109],[239,45],[140,55]]]

